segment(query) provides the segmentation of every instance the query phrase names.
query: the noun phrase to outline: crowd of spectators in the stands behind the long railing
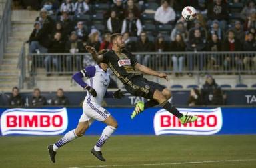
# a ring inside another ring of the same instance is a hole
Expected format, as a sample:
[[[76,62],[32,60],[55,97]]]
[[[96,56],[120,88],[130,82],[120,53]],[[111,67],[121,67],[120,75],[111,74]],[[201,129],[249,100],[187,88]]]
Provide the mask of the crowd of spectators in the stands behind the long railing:
[[[123,34],[125,46],[132,52],[256,51],[256,8],[251,0],[43,0],[38,3],[40,15],[27,41],[29,53],[85,53],[85,45],[97,51],[111,49],[111,33]],[[187,5],[197,9],[194,21],[187,22],[181,17],[181,10]],[[49,55],[43,64],[47,71],[50,65],[57,71],[64,68],[71,71],[73,61],[83,67],[82,59],[70,56],[59,60]],[[147,65],[150,55],[137,55],[137,59]],[[185,57],[171,55],[170,59],[173,71],[181,73]],[[187,69],[192,70],[193,61],[193,57],[187,60]],[[211,61],[218,62],[216,57]],[[231,61],[227,57],[220,64],[229,69]],[[240,61],[244,67],[256,67],[255,56]],[[205,65],[199,66],[202,69]]]

